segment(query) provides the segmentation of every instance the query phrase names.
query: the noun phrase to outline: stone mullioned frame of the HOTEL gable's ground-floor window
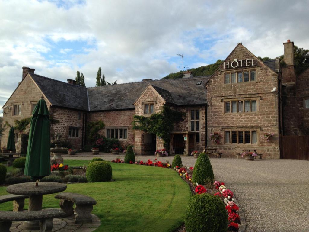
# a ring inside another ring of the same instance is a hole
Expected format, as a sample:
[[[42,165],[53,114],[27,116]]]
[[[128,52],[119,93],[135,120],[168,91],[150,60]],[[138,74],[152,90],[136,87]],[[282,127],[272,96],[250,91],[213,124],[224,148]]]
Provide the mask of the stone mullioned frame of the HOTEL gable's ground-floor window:
[[[223,131],[223,144],[235,145],[240,144],[244,146],[256,146],[260,143],[260,129],[259,128],[225,128]],[[230,131],[230,143],[226,143],[226,131]],[[232,143],[232,131],[236,131],[236,143]],[[239,143],[239,131],[243,132],[243,143]],[[250,143],[245,143],[245,131],[250,131]],[[256,132],[256,143],[252,143],[252,131]]]

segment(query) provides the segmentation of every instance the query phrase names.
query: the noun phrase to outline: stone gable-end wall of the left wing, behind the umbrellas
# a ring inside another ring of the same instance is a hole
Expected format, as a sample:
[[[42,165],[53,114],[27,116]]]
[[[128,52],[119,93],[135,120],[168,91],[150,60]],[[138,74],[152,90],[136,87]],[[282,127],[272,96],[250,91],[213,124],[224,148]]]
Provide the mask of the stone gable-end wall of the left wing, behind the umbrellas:
[[[31,112],[31,104],[36,103],[41,99],[42,92],[36,86],[34,81],[27,75],[23,81],[19,84],[15,92],[12,94],[10,99],[6,102],[5,106],[10,106],[11,109],[8,107],[4,109],[3,113],[3,122],[8,122],[11,126],[15,126],[14,120],[21,120],[23,118],[28,118],[32,116]],[[50,104],[47,99],[46,101],[47,107],[49,108]],[[15,104],[21,105],[21,114],[20,115],[13,115],[14,113],[14,106]],[[4,134],[1,139],[1,147],[6,147],[8,133],[10,131],[9,127],[6,127]],[[19,148],[17,148],[19,149]]]

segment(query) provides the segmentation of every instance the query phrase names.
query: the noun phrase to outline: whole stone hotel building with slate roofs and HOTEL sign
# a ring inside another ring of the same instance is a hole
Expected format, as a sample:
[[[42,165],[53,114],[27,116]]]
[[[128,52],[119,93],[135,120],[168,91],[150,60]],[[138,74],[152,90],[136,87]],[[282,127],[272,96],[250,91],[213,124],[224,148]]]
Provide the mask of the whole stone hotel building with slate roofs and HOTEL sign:
[[[30,117],[43,95],[51,117],[59,120],[51,125],[51,133],[60,132],[74,148],[87,143],[87,122],[102,120],[101,135],[133,144],[136,154],[146,155],[163,148],[163,141],[133,130],[133,116],[149,116],[169,105],[185,113],[170,134],[171,155],[208,146],[217,147],[223,156],[255,149],[265,158],[282,158],[282,137],[304,136],[309,131],[309,69],[296,76],[294,43],[283,45],[284,67],[278,59],[260,61],[239,43],[211,76],[193,77],[186,72],[181,79],[144,79],[93,88],[75,85],[71,79],[65,83],[40,76],[23,67],[22,81],[2,107],[3,119],[14,125],[15,119]],[[6,145],[8,131],[1,146]],[[212,132],[222,135],[218,145],[211,141]],[[265,132],[274,133],[270,143]],[[17,149],[20,137],[16,131]]]

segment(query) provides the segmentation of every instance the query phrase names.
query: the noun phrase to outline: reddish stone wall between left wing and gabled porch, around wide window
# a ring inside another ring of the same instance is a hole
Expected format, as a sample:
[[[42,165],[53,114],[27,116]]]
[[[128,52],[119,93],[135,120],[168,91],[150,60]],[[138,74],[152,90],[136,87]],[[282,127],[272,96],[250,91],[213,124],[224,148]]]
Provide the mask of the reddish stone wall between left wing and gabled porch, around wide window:
[[[102,120],[105,127],[127,127],[128,134],[126,140],[119,140],[122,146],[134,144],[134,130],[132,129],[132,121],[134,110],[119,110],[119,111],[102,111],[90,112],[87,117],[87,122]],[[105,136],[105,128],[99,131],[99,134]]]

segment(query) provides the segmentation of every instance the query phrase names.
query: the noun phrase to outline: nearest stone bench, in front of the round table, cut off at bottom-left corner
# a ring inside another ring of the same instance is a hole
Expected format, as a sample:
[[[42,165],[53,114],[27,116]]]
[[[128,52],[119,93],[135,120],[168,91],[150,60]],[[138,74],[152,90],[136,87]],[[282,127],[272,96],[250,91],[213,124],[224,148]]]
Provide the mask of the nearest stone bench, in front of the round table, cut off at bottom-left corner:
[[[44,209],[39,211],[11,212],[0,211],[0,231],[10,232],[13,221],[39,220],[40,232],[51,232],[53,218],[65,217],[66,213],[60,209]]]

